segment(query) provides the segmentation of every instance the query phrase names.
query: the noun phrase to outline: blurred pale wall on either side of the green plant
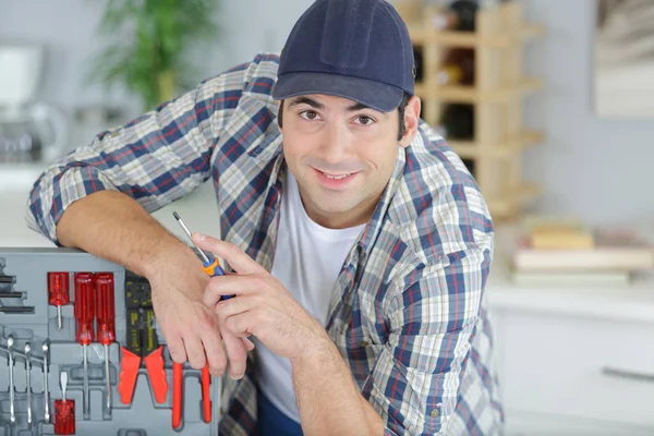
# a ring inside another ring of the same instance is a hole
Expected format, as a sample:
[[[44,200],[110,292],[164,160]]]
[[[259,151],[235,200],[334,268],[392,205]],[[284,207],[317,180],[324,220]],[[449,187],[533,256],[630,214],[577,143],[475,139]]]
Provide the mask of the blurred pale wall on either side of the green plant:
[[[105,101],[138,108],[124,89],[105,90],[85,85],[85,74],[102,40],[96,34],[107,0],[0,0],[0,43],[28,40],[45,44],[47,68],[41,98],[66,110]],[[311,0],[220,0],[218,40],[193,50],[198,81],[258,51],[279,51]],[[283,9],[283,11],[282,11]],[[1,68],[1,65],[0,65]]]

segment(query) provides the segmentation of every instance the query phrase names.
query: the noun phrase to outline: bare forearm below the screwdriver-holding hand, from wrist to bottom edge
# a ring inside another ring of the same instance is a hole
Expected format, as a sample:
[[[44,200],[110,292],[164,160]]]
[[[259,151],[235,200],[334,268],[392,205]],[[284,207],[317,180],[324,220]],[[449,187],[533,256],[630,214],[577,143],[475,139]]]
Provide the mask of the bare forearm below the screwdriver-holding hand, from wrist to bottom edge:
[[[304,434],[384,434],[382,417],[361,396],[352,373],[330,340],[319,351],[291,363]]]

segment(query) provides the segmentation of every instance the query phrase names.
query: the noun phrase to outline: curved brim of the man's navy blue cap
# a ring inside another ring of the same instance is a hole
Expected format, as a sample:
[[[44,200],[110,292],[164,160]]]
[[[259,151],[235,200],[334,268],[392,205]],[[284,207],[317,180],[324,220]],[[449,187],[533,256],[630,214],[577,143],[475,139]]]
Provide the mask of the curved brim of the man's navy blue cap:
[[[343,97],[382,112],[390,112],[400,105],[404,92],[396,86],[367,78],[311,72],[283,74],[272,89],[276,100],[305,94]]]

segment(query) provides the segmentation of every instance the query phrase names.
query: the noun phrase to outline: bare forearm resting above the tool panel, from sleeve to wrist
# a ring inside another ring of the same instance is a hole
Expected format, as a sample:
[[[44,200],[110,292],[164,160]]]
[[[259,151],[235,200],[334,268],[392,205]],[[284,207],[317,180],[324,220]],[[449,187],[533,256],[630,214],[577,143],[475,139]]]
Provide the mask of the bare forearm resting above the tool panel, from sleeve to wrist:
[[[168,256],[178,264],[197,262],[135,199],[114,191],[71,204],[57,225],[57,238],[64,246],[82,249],[148,278]]]

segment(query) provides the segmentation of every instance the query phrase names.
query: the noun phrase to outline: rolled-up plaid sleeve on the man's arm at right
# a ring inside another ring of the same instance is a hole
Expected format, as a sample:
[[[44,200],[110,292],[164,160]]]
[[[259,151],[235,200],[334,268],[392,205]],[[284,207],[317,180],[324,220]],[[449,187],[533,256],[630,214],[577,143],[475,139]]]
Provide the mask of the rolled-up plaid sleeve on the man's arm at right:
[[[386,435],[446,434],[492,254],[472,247],[420,268],[389,305],[390,335],[363,387]]]

